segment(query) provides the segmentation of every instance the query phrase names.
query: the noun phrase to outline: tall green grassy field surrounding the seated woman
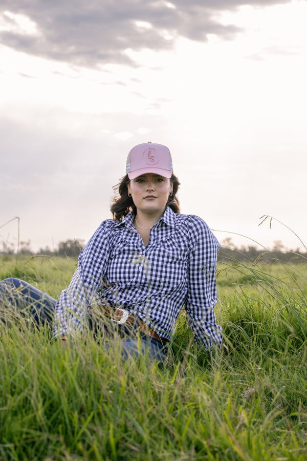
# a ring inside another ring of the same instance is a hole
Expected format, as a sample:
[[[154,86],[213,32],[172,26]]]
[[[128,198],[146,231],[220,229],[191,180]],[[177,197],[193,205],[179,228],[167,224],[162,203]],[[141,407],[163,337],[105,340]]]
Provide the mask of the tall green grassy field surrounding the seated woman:
[[[54,298],[76,261],[0,259]],[[20,320],[0,326],[1,460],[307,459],[305,265],[217,270],[218,352],[196,349],[184,311],[165,367],[87,336],[62,350]]]

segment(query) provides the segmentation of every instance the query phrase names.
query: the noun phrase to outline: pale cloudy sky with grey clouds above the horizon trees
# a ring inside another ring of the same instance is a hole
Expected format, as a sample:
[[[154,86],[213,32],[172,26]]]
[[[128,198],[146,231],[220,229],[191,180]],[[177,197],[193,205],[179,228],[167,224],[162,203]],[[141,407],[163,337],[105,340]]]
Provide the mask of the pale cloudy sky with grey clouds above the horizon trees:
[[[147,141],[220,241],[307,244],[306,18],[305,0],[2,0],[0,247],[14,217],[34,250],[87,241]]]

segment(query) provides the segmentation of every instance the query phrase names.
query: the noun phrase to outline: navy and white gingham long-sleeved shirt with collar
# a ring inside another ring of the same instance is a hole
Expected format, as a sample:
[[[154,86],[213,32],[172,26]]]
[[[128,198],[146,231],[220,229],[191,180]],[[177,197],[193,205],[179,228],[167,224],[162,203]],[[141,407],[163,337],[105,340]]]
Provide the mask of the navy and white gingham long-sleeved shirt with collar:
[[[145,247],[133,220],[131,212],[121,223],[103,221],[86,244],[78,269],[56,304],[54,337],[74,336],[91,304],[106,302],[137,314],[169,339],[185,305],[196,342],[220,344],[221,327],[213,310],[220,245],[207,224],[168,207]]]

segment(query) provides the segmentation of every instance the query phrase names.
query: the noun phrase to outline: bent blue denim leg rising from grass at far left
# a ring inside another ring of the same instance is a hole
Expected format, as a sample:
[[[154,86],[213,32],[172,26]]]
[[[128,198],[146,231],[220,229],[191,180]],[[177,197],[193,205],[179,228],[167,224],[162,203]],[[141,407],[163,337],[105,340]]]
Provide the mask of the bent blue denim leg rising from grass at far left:
[[[51,323],[56,300],[23,280],[9,278],[0,282],[0,306],[27,311],[40,326]]]

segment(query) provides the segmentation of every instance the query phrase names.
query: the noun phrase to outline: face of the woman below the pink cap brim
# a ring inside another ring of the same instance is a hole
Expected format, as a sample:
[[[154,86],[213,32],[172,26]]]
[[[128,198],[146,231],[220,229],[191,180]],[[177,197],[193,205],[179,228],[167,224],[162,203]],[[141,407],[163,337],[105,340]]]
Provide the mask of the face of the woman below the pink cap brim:
[[[173,184],[164,176],[146,173],[131,179],[127,187],[137,211],[147,214],[161,213],[162,216]]]

